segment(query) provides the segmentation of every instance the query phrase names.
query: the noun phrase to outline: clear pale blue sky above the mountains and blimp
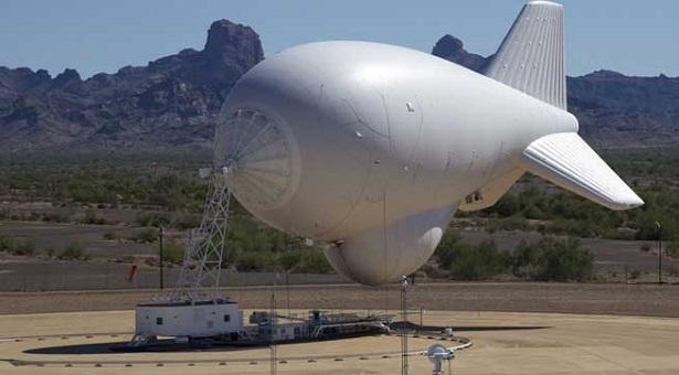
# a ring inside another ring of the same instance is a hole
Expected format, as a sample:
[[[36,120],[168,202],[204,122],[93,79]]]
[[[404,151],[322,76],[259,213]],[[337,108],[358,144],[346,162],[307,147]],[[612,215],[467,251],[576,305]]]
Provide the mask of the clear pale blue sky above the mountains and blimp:
[[[600,68],[679,76],[679,1],[562,0],[570,75]],[[0,65],[65,67],[83,77],[202,49],[210,23],[248,24],[265,54],[320,40],[365,40],[429,52],[443,34],[495,52],[523,0],[3,0]]]

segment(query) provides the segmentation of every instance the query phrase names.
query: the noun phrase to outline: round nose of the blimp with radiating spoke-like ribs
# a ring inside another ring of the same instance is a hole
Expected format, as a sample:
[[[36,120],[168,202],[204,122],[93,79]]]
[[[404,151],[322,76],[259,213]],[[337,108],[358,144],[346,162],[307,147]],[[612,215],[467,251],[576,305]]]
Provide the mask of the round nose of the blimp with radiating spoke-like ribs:
[[[282,120],[250,109],[222,113],[214,151],[218,169],[227,168],[227,184],[247,208],[277,208],[295,192],[298,150]]]

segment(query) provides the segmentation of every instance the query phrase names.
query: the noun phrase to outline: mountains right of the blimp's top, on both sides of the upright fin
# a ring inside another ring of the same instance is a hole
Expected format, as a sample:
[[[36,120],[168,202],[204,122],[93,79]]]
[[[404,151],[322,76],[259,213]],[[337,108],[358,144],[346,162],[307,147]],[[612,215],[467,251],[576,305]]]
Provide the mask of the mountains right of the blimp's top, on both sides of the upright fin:
[[[432,53],[482,72],[492,56],[469,53],[463,42],[443,36]],[[580,132],[597,147],[671,146],[679,141],[679,77],[629,77],[598,71],[567,77],[569,110]]]

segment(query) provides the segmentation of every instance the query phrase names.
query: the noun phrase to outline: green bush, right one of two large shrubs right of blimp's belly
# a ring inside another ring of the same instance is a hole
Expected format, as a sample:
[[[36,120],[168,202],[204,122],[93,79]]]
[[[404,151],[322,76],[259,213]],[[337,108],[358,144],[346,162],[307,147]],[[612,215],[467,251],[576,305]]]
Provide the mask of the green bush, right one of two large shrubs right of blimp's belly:
[[[586,281],[592,278],[594,256],[575,238],[522,242],[512,253],[512,272],[540,281]]]

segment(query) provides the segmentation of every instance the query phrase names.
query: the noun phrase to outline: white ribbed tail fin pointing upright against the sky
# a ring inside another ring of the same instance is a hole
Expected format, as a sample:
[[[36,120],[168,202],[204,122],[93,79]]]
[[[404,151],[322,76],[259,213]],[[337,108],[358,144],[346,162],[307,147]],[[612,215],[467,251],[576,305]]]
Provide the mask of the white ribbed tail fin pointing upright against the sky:
[[[566,109],[563,7],[530,1],[509,30],[486,75]]]

